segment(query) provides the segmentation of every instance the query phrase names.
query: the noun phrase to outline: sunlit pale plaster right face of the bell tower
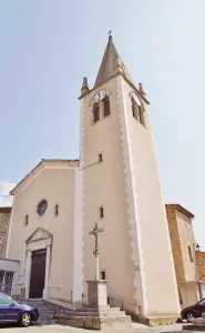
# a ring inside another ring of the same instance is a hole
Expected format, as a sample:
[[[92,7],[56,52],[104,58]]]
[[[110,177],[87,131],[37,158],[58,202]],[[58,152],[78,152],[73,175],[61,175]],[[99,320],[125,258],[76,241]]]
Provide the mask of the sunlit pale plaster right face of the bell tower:
[[[132,115],[130,99],[132,88],[123,79],[121,81],[136,198],[135,223],[142,255],[140,271],[144,314],[147,316],[177,314],[180,312],[177,285],[148,110],[145,107],[146,128],[144,128]]]

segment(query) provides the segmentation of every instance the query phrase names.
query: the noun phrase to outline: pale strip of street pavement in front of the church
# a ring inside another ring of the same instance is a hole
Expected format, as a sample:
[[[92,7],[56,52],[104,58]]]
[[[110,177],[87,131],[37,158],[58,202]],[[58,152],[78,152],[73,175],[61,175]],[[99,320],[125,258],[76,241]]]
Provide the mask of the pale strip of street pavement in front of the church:
[[[22,327],[18,326],[0,326],[0,330],[6,330],[4,333],[22,333]],[[24,333],[93,333],[91,330],[82,330],[70,326],[63,326],[58,324],[52,325],[31,325],[30,327],[23,329]],[[95,331],[96,332],[96,331]],[[101,331],[103,333],[103,331]],[[104,333],[176,333],[182,331],[182,324],[174,324],[168,326],[155,326],[148,327],[142,324],[133,323],[132,329],[127,331],[104,331]]]

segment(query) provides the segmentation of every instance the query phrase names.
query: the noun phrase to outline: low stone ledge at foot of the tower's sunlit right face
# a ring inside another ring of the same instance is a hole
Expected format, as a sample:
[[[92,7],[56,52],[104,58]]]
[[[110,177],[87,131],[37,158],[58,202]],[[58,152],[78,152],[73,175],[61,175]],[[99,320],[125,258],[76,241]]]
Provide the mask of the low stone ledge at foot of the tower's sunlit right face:
[[[178,315],[167,315],[167,316],[142,316],[137,315],[136,321],[141,324],[155,326],[155,325],[171,325],[175,324],[180,320]]]

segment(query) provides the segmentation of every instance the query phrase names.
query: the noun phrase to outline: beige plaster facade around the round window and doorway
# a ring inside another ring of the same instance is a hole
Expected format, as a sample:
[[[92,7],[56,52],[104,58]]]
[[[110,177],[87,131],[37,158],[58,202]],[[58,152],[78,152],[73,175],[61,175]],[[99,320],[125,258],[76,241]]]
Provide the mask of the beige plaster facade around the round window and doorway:
[[[74,192],[75,168],[50,167],[14,198],[9,259],[20,260],[20,275],[24,275],[27,239],[37,228],[53,234],[49,286],[55,296],[64,294],[70,297],[73,291]],[[37,204],[42,199],[48,200],[48,210],[39,216]],[[59,204],[58,216],[54,216],[55,204]],[[29,215],[28,225],[24,225],[25,214]]]

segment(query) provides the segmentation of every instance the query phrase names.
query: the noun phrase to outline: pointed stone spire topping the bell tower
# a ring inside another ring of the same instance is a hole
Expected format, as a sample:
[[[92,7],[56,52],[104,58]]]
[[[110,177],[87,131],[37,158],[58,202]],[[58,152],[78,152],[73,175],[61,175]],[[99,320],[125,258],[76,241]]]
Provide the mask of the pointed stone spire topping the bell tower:
[[[122,73],[132,84],[133,80],[131,79],[126,67],[124,65],[114,43],[111,31],[109,32],[109,42],[104,51],[104,56],[101,62],[101,67],[94,83],[94,88],[107,81],[116,73]]]

